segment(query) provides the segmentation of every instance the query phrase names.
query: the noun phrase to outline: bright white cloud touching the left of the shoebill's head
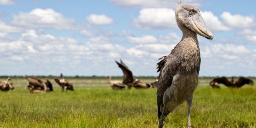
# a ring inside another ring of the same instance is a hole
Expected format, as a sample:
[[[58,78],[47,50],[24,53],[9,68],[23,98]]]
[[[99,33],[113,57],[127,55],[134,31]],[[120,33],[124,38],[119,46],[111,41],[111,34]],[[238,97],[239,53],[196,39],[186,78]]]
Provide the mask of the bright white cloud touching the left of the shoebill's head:
[[[174,13],[168,8],[144,8],[133,20],[133,26],[139,29],[178,29]]]

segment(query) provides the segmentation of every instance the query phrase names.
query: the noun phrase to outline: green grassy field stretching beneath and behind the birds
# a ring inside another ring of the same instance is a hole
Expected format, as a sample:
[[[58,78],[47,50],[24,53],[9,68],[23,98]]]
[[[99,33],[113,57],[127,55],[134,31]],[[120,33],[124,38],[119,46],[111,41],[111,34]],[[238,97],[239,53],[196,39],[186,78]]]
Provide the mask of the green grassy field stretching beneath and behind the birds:
[[[0,128],[157,128],[156,88],[114,91],[106,86],[107,78],[70,81],[75,91],[54,86],[53,93],[29,94],[25,79],[13,79],[19,86],[0,92]],[[208,82],[200,79],[194,93],[193,128],[256,128],[256,86],[202,86]],[[167,116],[165,128],[186,125],[184,102]]]

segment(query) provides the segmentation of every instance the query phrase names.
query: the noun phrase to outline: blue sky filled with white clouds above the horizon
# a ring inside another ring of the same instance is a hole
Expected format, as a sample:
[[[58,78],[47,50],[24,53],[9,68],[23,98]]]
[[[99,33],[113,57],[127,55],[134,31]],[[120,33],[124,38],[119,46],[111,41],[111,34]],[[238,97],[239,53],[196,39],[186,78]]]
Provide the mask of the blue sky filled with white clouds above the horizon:
[[[0,0],[0,75],[157,76],[180,41],[176,0]],[[254,0],[183,0],[214,34],[199,76],[256,76]]]

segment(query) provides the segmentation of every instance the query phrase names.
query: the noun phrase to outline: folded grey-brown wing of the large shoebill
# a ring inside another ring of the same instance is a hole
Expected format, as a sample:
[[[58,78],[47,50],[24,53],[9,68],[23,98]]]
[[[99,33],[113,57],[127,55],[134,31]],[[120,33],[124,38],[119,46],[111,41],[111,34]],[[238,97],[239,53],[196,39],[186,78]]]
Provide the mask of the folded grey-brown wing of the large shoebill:
[[[172,56],[171,54],[163,56],[160,59],[162,59],[162,61],[157,63],[157,72],[160,71],[157,85],[157,96],[163,95],[166,89],[171,86],[172,78],[176,74],[180,63],[176,61],[177,57]]]

